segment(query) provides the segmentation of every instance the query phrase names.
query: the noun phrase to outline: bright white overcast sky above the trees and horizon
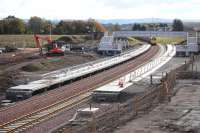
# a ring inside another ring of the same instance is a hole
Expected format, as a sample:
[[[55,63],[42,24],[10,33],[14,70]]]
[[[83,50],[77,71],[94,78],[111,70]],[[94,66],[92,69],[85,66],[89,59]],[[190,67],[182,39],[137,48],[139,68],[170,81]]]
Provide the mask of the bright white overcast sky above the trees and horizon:
[[[0,18],[200,19],[200,0],[0,0]]]

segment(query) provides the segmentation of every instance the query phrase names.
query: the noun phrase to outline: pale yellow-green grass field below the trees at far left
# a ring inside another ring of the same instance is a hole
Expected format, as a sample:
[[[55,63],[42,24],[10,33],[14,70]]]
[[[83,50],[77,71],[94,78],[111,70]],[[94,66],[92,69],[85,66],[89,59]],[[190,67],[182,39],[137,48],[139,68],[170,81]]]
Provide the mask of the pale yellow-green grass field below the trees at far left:
[[[55,40],[61,36],[63,35],[52,35],[52,39]],[[46,42],[44,41],[44,43]],[[6,45],[33,48],[35,47],[35,40],[33,35],[0,35],[0,47],[4,47]]]

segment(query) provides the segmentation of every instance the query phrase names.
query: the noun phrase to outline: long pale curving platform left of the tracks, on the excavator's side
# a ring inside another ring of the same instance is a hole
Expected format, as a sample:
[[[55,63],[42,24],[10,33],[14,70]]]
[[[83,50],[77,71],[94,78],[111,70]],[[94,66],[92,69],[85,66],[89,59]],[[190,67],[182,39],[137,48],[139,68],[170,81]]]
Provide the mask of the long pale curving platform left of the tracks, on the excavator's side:
[[[142,45],[137,49],[124,52],[123,54],[120,54],[120,56],[116,55],[114,57],[104,58],[47,73],[40,80],[8,88],[6,90],[6,98],[12,101],[21,101],[30,98],[33,95],[55,89],[58,86],[66,85],[72,80],[119,65],[120,63],[128,61],[129,59],[146,52],[149,48],[150,45],[148,44]]]

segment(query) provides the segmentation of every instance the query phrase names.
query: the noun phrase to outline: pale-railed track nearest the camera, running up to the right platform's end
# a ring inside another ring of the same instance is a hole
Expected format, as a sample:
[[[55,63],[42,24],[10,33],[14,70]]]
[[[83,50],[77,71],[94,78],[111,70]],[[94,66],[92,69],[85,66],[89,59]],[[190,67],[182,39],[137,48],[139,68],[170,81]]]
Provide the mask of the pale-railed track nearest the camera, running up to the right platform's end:
[[[90,99],[90,93],[84,93],[78,97],[73,97],[65,99],[62,102],[55,103],[48,107],[42,108],[36,112],[30,113],[26,116],[18,118],[10,123],[4,125],[0,129],[0,133],[12,133],[12,132],[22,132],[24,129],[36,125],[44,120],[50,119],[56,113],[62,111],[63,109],[68,110],[79,104],[86,102]]]

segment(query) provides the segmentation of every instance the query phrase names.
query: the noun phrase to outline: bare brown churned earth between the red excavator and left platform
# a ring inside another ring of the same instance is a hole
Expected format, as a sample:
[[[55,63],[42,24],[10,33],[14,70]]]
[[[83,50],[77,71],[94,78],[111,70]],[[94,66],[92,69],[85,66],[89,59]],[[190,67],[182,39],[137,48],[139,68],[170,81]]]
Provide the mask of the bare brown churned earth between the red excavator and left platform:
[[[97,43],[98,40],[93,41],[91,47],[88,47],[91,49],[88,52],[83,52],[82,46],[77,44],[75,46],[79,48],[79,51],[69,51],[65,56],[41,56],[39,48],[22,48],[15,52],[2,53],[0,57],[0,80],[2,82],[0,90],[5,91],[4,89],[9,85],[25,83],[26,80],[38,79],[41,74],[53,70],[99,59],[101,56],[93,52]]]

